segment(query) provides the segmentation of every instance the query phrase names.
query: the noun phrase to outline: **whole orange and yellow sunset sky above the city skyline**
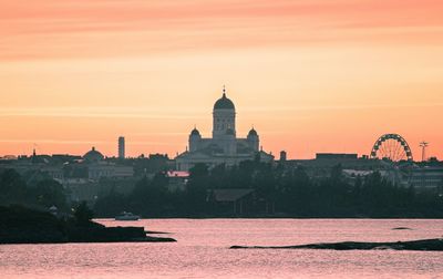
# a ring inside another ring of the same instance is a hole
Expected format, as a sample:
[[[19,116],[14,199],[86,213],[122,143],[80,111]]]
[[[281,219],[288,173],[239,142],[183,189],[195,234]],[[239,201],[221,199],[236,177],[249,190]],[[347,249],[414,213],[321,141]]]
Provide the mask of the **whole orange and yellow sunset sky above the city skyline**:
[[[398,133],[443,159],[443,1],[0,0],[0,156],[186,148],[223,85],[289,158]]]

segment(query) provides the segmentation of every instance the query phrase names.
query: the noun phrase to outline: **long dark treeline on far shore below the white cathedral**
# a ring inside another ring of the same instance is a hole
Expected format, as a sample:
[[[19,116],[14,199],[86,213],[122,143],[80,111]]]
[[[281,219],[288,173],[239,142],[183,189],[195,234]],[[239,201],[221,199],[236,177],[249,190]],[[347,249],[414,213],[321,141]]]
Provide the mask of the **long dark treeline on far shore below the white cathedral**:
[[[251,188],[256,200],[272,205],[272,213],[257,207],[244,214],[250,217],[443,217],[441,195],[399,187],[378,172],[349,183],[340,165],[328,177],[312,179],[301,166],[286,169],[259,162],[210,170],[196,165],[186,190],[178,193],[167,190],[167,178],[159,173],[153,179],[141,179],[130,195],[112,192],[99,198],[94,209],[103,217],[123,210],[144,217],[230,216],[208,198],[208,190],[220,188]]]

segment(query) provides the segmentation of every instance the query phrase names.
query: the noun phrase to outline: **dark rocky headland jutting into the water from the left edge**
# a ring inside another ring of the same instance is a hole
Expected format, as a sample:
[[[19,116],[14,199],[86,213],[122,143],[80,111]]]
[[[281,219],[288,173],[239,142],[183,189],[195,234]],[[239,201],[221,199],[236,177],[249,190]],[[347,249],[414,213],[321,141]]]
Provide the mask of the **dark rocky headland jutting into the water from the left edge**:
[[[105,227],[94,221],[72,219],[23,207],[0,206],[0,244],[64,242],[173,242],[173,238],[146,236],[143,227]]]

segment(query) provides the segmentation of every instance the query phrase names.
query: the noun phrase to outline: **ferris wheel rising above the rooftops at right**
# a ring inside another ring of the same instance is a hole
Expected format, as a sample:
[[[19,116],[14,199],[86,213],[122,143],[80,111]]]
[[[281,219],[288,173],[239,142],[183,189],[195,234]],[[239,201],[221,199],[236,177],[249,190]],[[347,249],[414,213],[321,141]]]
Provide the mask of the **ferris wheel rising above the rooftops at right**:
[[[389,159],[392,162],[413,161],[409,144],[398,134],[380,136],[372,147],[371,158]]]

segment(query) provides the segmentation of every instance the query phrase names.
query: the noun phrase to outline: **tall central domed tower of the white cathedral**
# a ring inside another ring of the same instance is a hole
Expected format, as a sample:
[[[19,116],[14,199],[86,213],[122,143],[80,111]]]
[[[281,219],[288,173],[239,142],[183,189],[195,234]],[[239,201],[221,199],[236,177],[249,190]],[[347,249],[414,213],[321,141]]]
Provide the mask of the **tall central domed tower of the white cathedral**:
[[[213,111],[213,138],[220,140],[227,133],[236,135],[236,112],[233,101],[226,96],[226,89],[223,87],[223,95],[214,104]]]

